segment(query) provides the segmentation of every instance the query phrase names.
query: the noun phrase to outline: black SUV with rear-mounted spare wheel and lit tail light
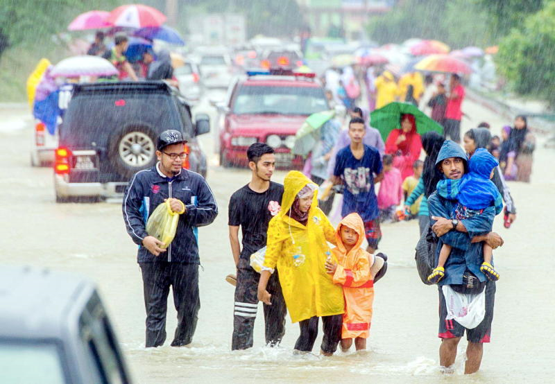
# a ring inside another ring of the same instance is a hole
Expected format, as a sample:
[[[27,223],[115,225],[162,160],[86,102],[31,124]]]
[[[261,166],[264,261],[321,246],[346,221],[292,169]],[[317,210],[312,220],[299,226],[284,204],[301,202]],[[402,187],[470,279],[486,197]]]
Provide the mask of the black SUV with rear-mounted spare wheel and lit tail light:
[[[130,177],[155,164],[156,139],[168,129],[189,141],[183,166],[205,176],[196,137],[210,131],[209,117],[193,124],[178,89],[163,81],[74,85],[56,150],[56,202],[121,198]]]

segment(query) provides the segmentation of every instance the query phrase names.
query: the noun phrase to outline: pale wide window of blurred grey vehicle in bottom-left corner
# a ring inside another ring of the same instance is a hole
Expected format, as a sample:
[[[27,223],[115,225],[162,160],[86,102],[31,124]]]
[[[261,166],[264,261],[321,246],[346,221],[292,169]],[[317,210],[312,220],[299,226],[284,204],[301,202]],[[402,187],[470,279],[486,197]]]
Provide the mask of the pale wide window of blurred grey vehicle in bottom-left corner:
[[[3,383],[67,382],[54,342],[0,340],[0,372]]]

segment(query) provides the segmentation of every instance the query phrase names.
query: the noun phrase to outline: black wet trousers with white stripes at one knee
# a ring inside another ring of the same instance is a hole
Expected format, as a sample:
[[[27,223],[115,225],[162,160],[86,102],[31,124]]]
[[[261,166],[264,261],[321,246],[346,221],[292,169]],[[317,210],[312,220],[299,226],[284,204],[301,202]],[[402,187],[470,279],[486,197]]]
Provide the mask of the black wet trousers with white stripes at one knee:
[[[259,279],[260,274],[253,270],[245,259],[240,259],[237,269],[237,286],[235,287],[232,350],[253,347]],[[280,344],[285,334],[285,315],[287,315],[277,270],[270,277],[266,290],[272,295],[272,305],[263,304],[266,344],[275,346]]]

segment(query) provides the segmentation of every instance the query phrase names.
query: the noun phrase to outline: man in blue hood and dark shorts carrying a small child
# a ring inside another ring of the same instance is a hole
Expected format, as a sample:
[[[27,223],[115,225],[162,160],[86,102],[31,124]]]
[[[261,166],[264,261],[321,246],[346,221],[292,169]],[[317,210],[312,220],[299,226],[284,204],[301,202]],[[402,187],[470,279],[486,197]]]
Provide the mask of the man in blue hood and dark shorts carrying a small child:
[[[461,146],[445,140],[438,153],[436,166],[444,177],[459,180],[466,171],[467,157]],[[488,281],[479,267],[484,261],[484,246],[488,243],[493,249],[503,244],[501,236],[491,232],[495,208],[488,207],[480,214],[462,220],[452,220],[451,212],[456,208],[456,200],[447,200],[436,192],[428,198],[428,209],[432,230],[438,236],[435,262],[443,244],[452,247],[445,262],[445,278],[438,284],[439,290],[439,362],[445,372],[452,372],[456,358],[456,347],[466,333],[465,374],[477,372],[480,368],[484,342],[490,342],[493,304],[495,301],[495,281]],[[457,293],[479,295],[484,292],[484,317],[477,326],[465,326],[455,320],[447,320],[447,303],[443,286],[450,286]]]

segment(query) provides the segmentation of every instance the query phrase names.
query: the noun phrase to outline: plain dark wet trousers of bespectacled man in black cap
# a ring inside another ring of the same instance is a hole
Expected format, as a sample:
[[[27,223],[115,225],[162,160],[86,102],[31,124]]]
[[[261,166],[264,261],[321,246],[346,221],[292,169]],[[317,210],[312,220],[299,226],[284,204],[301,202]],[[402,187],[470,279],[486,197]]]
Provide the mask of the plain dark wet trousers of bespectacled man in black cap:
[[[196,329],[200,297],[198,264],[139,263],[143,276],[146,308],[146,347],[160,347],[166,340],[166,313],[169,288],[178,312],[178,326],[172,347],[190,344]]]

